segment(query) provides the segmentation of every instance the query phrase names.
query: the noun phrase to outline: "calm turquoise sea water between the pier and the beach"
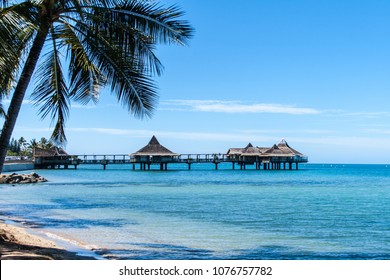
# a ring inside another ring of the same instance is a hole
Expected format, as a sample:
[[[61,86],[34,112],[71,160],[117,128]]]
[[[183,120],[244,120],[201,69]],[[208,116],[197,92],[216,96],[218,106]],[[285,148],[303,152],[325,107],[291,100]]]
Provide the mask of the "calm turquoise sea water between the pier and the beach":
[[[80,166],[0,186],[3,215],[117,259],[390,259],[390,165]]]

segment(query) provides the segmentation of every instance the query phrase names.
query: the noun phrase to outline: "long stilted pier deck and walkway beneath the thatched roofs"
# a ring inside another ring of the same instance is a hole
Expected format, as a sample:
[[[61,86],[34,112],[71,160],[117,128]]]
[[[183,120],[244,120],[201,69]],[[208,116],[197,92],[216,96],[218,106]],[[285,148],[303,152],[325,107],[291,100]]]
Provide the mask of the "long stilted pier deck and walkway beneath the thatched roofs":
[[[185,164],[188,170],[191,170],[193,164],[214,164],[215,169],[218,169],[220,163],[231,163],[232,169],[246,169],[248,165],[254,165],[255,169],[260,170],[281,170],[281,169],[298,169],[299,163],[308,162],[306,156],[286,156],[286,157],[242,157],[232,158],[227,154],[181,154],[172,158],[164,158],[159,156],[150,157],[134,157],[126,154],[117,155],[60,155],[50,157],[40,157],[35,159],[34,167],[36,169],[55,169],[69,168],[77,169],[81,164],[96,164],[101,165],[106,169],[110,164],[130,164],[132,169],[137,167],[139,170],[151,170],[152,165],[158,165],[160,170],[167,170],[168,164]],[[262,168],[261,168],[262,167]]]

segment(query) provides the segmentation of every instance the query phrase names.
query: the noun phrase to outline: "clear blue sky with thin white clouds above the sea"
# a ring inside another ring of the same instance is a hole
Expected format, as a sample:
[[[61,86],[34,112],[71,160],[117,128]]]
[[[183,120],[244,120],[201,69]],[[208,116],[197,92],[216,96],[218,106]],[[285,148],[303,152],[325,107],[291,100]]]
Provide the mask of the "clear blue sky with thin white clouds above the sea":
[[[195,33],[158,46],[153,117],[104,90],[97,105],[72,105],[68,153],[129,154],[153,135],[182,154],[285,139],[312,163],[390,163],[390,1],[160,2],[177,3]],[[13,136],[52,129],[27,95]]]

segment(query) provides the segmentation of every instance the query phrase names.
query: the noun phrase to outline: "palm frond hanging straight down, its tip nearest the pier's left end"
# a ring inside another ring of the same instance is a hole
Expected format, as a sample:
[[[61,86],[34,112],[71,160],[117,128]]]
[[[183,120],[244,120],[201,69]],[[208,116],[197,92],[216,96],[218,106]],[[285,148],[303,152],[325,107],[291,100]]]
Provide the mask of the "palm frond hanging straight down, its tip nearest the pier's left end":
[[[56,122],[51,139],[61,144],[66,143],[65,121],[69,114],[69,93],[55,39],[52,38],[52,41],[53,48],[44,55],[44,61],[37,69],[38,85],[32,98],[34,104],[40,107],[41,117],[50,116]]]

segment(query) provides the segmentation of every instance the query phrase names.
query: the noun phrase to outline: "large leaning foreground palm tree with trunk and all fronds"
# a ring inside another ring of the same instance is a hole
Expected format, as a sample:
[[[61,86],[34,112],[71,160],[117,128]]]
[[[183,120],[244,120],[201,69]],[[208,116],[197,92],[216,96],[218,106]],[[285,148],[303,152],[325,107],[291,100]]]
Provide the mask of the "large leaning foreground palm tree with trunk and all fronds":
[[[151,77],[163,68],[155,46],[185,45],[193,31],[177,6],[144,0],[10,2],[0,1],[0,96],[13,91],[0,136],[0,172],[34,72],[32,99],[41,117],[55,122],[51,140],[66,143],[71,101],[97,102],[107,85],[134,116],[151,117],[157,102]]]

